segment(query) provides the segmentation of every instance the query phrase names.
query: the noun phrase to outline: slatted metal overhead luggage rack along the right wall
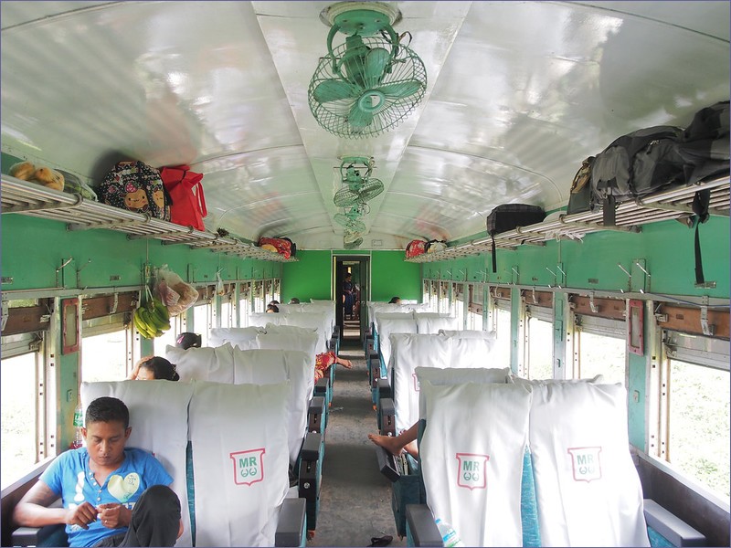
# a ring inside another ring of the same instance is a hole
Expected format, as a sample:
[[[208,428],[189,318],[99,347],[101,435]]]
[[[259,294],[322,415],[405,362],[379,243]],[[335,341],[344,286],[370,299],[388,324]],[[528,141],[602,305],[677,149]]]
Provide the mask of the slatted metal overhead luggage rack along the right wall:
[[[715,216],[729,215],[729,176],[725,175],[713,180],[677,187],[670,190],[639,198],[634,202],[625,202],[617,207],[617,224],[615,227],[602,225],[602,212],[587,211],[574,215],[560,215],[529,227],[517,227],[495,236],[495,248],[516,249],[523,245],[546,245],[546,240],[575,239],[592,232],[615,230],[622,232],[641,232],[643,225],[657,223],[681,216],[693,215],[691,204],[697,191],[704,188],[711,190],[709,213]],[[478,255],[493,248],[489,236],[465,242],[459,246],[443,249],[434,253],[424,253],[407,262],[424,263],[451,258]]]

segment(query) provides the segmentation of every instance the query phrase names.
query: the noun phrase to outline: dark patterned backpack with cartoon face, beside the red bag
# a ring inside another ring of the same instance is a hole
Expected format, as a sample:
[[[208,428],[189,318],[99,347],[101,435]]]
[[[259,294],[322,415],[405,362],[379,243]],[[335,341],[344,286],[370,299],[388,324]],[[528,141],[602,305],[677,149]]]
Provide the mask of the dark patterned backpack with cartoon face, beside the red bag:
[[[104,204],[170,220],[170,196],[160,173],[146,163],[118,162],[101,182],[99,195]]]

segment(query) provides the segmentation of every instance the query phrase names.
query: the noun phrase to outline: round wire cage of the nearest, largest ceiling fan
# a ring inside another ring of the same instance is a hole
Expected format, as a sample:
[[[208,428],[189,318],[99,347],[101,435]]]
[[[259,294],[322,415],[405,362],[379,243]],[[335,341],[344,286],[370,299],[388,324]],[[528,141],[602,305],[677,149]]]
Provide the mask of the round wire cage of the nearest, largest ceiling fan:
[[[363,37],[363,42],[369,48],[392,47],[383,37]],[[308,90],[310,110],[313,112],[315,120],[327,132],[331,132],[337,136],[351,138],[366,138],[380,135],[395,128],[408,114],[414,111],[418,103],[423,99],[427,82],[427,71],[424,63],[408,46],[398,45],[397,56],[391,61],[390,71],[387,71],[383,80],[381,82],[369,82],[376,83],[375,86],[369,87],[366,90],[354,84],[361,91],[357,97],[330,100],[322,103],[315,100],[313,91],[320,83],[333,79],[342,80],[334,71],[334,63],[341,63],[344,53],[345,44],[341,44],[334,48],[333,56],[328,54],[320,58]],[[405,98],[391,95],[384,96],[381,104],[373,111],[373,121],[365,127],[354,127],[348,122],[353,105],[366,91],[378,90],[380,86],[384,85],[408,83],[413,80],[417,80],[420,84],[415,93]]]

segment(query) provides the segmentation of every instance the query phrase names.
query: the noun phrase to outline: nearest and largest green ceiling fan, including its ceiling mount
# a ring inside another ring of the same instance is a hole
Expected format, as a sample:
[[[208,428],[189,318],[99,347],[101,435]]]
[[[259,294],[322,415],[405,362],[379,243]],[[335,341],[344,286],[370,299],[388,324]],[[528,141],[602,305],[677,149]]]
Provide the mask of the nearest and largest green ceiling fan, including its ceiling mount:
[[[424,63],[393,29],[400,12],[381,2],[339,2],[323,10],[332,26],[327,55],[310,81],[315,120],[339,137],[371,137],[395,128],[424,97]],[[333,38],[345,41],[333,47]],[[408,35],[410,37],[410,35]]]

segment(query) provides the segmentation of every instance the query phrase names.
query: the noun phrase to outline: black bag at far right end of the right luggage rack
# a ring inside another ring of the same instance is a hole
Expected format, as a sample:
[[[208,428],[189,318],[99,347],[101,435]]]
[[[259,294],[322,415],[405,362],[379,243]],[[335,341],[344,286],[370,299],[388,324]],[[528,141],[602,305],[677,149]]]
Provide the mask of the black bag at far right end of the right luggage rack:
[[[697,111],[685,128],[678,151],[685,162],[685,178],[695,184],[729,172],[729,101],[721,100]]]

